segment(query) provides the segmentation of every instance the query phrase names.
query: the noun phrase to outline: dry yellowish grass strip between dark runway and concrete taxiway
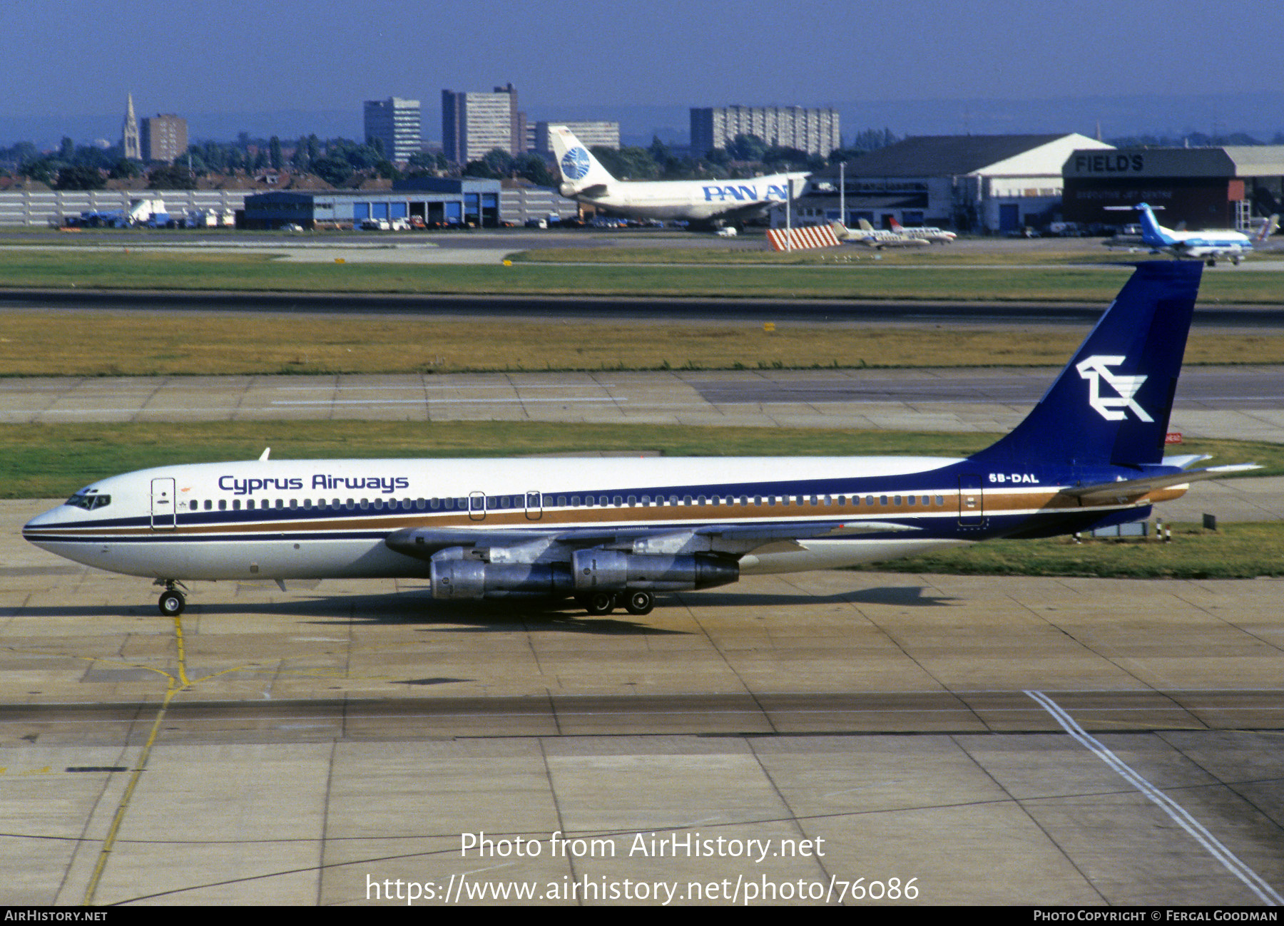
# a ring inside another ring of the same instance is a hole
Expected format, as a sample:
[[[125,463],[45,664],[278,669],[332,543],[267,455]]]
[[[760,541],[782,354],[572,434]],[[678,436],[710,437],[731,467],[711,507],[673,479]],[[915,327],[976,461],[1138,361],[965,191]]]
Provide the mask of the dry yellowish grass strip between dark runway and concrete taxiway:
[[[1058,366],[1084,331],[0,313],[0,373]],[[1193,335],[1186,363],[1284,363],[1284,336]]]

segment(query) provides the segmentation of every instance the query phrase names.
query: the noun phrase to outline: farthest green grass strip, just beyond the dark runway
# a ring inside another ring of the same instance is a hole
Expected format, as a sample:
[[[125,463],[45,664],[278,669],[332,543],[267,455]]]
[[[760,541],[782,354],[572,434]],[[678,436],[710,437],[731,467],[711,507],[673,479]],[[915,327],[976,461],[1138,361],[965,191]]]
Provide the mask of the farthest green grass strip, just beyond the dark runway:
[[[0,280],[9,287],[45,289],[1048,300],[1102,305],[1113,298],[1122,282],[1122,271],[1025,267],[1017,272],[1014,267],[941,267],[926,259],[915,267],[891,262],[878,265],[874,262],[761,265],[758,258],[752,263],[759,265],[722,260],[727,264],[722,267],[637,262],[578,267],[520,260],[511,267],[308,264],[282,263],[273,260],[271,254],[195,254],[191,249],[144,249],[143,244],[127,240],[119,246],[96,250],[0,250]],[[639,250],[652,258],[665,253]],[[577,249],[575,253],[584,260],[592,251]],[[1279,304],[1281,291],[1284,273],[1279,272],[1208,273],[1202,298],[1204,301],[1274,305]]]

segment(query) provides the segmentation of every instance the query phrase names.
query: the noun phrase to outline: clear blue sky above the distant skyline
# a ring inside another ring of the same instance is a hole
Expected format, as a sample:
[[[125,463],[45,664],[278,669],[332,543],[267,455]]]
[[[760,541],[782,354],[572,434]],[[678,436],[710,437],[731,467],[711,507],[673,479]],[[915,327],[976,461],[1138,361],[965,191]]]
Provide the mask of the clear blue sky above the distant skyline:
[[[1280,88],[1281,35],[1279,0],[9,0],[0,117],[1234,94]]]

